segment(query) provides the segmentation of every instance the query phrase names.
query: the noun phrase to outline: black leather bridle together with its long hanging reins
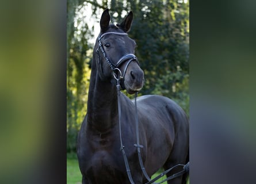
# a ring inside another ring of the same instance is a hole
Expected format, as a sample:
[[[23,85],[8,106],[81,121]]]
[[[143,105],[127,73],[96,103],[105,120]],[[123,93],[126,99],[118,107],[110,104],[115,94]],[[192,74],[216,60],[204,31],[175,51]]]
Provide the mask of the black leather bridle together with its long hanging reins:
[[[125,88],[124,88],[124,86],[121,85],[120,82],[123,81],[123,85],[124,85],[124,76],[125,76],[125,73],[127,71],[127,68],[129,66],[129,64],[132,61],[135,61],[139,65],[139,61],[137,60],[137,57],[135,55],[133,55],[132,53],[129,53],[129,54],[124,55],[123,57],[121,57],[119,59],[119,61],[116,64],[114,64],[109,59],[109,57],[106,55],[106,52],[104,51],[104,48],[103,48],[102,43],[101,43],[102,37],[104,37],[105,35],[108,35],[108,34],[116,34],[118,36],[128,36],[128,34],[127,33],[117,33],[117,32],[106,32],[106,33],[101,34],[101,36],[98,37],[98,48],[97,48],[96,52],[98,54],[99,59],[100,59],[99,50],[102,52],[102,55],[104,56],[106,62],[109,64],[109,66],[110,66],[110,68],[111,68],[111,70],[113,72],[114,79],[116,79],[117,106],[118,106],[118,112],[119,112],[119,135],[120,135],[120,145],[121,145],[120,151],[123,154],[125,168],[126,168],[126,171],[127,171],[127,175],[128,175],[129,181],[130,181],[131,184],[135,184],[135,182],[132,179],[131,170],[129,169],[129,163],[128,163],[127,156],[125,154],[123,140],[122,140],[122,135],[121,135],[121,100],[120,100],[120,90],[121,89],[125,89]],[[126,61],[127,61],[127,64],[126,64],[126,66],[124,68],[124,75],[122,76],[122,72],[120,71],[119,67],[121,66],[121,64],[123,64]],[[118,71],[120,73],[120,76],[117,76],[116,71]],[[168,170],[164,171],[163,173],[159,174],[154,179],[150,179],[150,177],[148,177],[146,169],[144,168],[144,165],[143,165],[142,155],[141,155],[141,152],[140,152],[140,148],[143,148],[143,145],[140,145],[140,143],[139,143],[139,122],[138,122],[138,117],[137,117],[137,102],[136,102],[136,98],[137,98],[137,92],[135,93],[136,144],[133,144],[133,146],[135,146],[137,148],[137,154],[138,154],[138,157],[139,157],[140,168],[141,168],[144,176],[148,180],[148,182],[146,184],[154,183],[157,179],[163,177],[163,175],[169,173],[171,170],[173,170],[175,167],[178,167],[178,166],[183,166],[183,170],[179,171],[178,173],[175,173],[175,174],[171,175],[170,177],[164,179],[163,181],[161,181],[159,183],[163,183],[163,182],[168,181],[170,179],[179,177],[182,174],[188,172],[189,171],[189,162],[187,164],[185,164],[185,165],[184,164],[177,164],[177,165],[169,168]],[[155,183],[155,184],[159,184],[159,183]]]

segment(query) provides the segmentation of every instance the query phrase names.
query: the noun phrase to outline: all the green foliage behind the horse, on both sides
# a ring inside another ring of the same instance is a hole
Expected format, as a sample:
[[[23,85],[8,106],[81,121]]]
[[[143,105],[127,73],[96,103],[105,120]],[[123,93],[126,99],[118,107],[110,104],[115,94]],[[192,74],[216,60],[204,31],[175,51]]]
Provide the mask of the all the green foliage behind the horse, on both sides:
[[[67,150],[75,151],[77,133],[86,114],[94,27],[82,11],[100,20],[110,8],[112,22],[133,11],[129,36],[137,43],[136,56],[145,84],[139,95],[159,94],[176,101],[189,114],[189,2],[182,0],[67,1]],[[128,95],[133,98],[133,96]]]

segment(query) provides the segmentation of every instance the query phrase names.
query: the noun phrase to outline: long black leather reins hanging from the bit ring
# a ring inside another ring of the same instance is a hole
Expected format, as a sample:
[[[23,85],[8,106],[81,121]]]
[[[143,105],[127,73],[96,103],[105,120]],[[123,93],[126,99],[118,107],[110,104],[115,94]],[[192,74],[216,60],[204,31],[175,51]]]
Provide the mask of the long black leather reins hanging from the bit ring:
[[[121,134],[121,102],[120,102],[120,80],[121,80],[121,71],[118,69],[118,68],[115,68],[115,70],[118,70],[120,72],[120,78],[117,78],[116,74],[114,73],[114,79],[116,79],[116,88],[117,88],[117,105],[118,105],[118,111],[119,111],[119,135],[120,135],[120,151],[122,152],[123,154],[123,158],[124,158],[124,163],[125,163],[125,168],[126,168],[126,171],[127,171],[127,175],[128,175],[128,178],[129,178],[129,181],[131,184],[135,184],[133,182],[133,179],[132,179],[132,174],[131,174],[131,170],[129,168],[129,163],[128,163],[128,159],[127,159],[127,156],[125,154],[125,150],[124,150],[124,144],[123,144],[123,140],[122,140],[122,134]],[[137,101],[136,101],[136,98],[137,98],[137,92],[135,93],[135,123],[136,123],[136,144],[133,144],[133,146],[137,147],[137,154],[138,154],[138,157],[139,157],[139,163],[140,163],[140,168],[144,174],[144,176],[147,178],[148,182],[146,184],[160,184],[160,183],[163,183],[165,181],[168,181],[170,179],[174,179],[174,178],[177,178],[183,174],[185,174],[186,172],[189,171],[189,162],[186,163],[185,165],[184,164],[177,164],[171,168],[169,168],[168,170],[164,171],[163,173],[159,174],[157,177],[155,177],[154,179],[150,179],[150,177],[148,177],[148,174],[146,172],[146,169],[143,165],[143,161],[142,161],[142,155],[141,155],[141,152],[140,152],[140,148],[143,148],[143,145],[140,145],[139,143],[139,121],[138,121],[138,117],[137,117]],[[159,178],[163,177],[163,175],[169,173],[171,170],[173,170],[174,168],[178,167],[178,166],[183,166],[183,170],[179,171],[178,173],[175,173],[173,175],[171,175],[170,177],[164,179],[163,181],[159,182],[159,183],[154,183],[156,180],[158,180]]]

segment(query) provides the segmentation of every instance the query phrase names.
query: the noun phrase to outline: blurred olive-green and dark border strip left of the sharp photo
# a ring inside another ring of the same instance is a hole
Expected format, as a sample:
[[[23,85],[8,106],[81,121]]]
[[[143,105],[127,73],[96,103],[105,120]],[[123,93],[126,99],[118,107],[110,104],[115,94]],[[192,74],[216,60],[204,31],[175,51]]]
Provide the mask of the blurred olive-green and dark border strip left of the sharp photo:
[[[66,183],[66,1],[5,1],[0,10],[0,162],[9,162],[0,183]]]

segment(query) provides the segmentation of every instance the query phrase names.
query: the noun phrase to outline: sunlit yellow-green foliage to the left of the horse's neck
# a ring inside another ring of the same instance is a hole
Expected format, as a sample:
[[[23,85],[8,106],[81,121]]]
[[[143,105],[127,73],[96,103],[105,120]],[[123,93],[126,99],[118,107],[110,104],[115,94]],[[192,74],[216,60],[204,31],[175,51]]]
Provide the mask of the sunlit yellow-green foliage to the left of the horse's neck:
[[[89,89],[91,33],[81,17],[82,2],[67,1],[67,151],[75,151]]]

